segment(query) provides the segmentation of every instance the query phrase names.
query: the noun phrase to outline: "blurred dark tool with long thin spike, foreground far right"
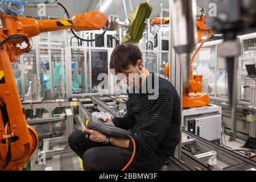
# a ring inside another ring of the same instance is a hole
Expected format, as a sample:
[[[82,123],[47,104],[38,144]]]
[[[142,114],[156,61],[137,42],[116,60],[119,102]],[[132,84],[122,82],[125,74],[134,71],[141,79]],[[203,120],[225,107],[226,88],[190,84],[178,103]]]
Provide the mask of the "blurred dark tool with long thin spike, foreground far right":
[[[226,59],[228,68],[228,90],[229,102],[232,109],[232,123],[237,120],[237,59],[241,54],[241,46],[237,41],[237,35],[246,32],[248,29],[256,27],[256,2],[247,1],[211,1],[215,3],[216,13],[207,19],[208,27],[214,32],[223,34],[224,43],[220,46],[219,54]],[[230,141],[236,139],[236,125],[232,126]]]

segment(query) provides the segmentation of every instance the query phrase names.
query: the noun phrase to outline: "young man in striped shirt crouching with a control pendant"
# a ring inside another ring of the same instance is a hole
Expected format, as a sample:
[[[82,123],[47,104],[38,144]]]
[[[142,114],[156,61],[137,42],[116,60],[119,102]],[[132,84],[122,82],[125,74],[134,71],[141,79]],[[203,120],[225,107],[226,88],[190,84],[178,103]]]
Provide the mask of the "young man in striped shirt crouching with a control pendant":
[[[116,75],[123,73],[122,81],[129,83],[133,91],[139,87],[139,93],[128,94],[125,117],[112,119],[115,126],[133,133],[136,154],[127,170],[160,170],[165,160],[174,155],[180,141],[180,98],[169,81],[143,67],[141,51],[134,44],[116,47],[110,68]],[[141,79],[138,81],[131,75],[139,75]],[[154,93],[149,92],[148,85],[154,88]],[[86,133],[90,133],[89,139]],[[109,137],[95,130],[74,131],[68,142],[86,171],[121,170],[133,154],[130,139]]]

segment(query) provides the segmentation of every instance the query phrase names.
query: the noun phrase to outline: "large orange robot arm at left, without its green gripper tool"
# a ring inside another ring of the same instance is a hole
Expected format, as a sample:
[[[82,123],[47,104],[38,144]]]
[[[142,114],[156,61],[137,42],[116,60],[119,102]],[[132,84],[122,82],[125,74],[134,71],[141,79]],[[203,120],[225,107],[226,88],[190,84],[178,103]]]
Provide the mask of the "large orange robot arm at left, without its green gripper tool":
[[[76,31],[100,30],[108,26],[108,17],[98,10],[75,15],[71,19],[36,20],[10,14],[0,16],[3,25],[0,29],[0,170],[19,170],[35,151],[38,134],[26,123],[11,61],[18,60],[19,55],[30,51],[28,38],[42,32],[69,28]],[[18,38],[7,41],[10,36]],[[27,48],[16,47],[24,40]],[[10,157],[10,154],[11,159],[6,165],[7,156]]]

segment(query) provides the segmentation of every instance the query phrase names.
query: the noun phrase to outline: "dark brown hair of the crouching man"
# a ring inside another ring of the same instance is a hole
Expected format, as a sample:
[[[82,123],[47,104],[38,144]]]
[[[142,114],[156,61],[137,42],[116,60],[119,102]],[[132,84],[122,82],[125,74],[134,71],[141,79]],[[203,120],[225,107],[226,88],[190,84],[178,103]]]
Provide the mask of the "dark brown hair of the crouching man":
[[[122,73],[129,65],[137,64],[142,60],[141,50],[134,44],[120,44],[117,46],[110,57],[110,69],[115,69],[115,73]]]

